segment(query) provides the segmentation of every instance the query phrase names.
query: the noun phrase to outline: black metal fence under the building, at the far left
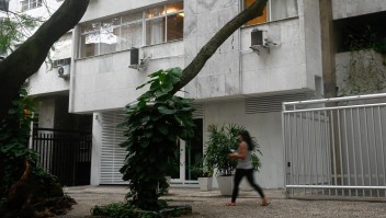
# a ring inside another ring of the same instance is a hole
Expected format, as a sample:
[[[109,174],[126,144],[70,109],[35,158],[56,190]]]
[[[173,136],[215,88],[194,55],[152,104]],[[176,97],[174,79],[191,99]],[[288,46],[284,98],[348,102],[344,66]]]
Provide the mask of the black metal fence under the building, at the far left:
[[[91,133],[35,128],[32,148],[39,164],[63,185],[88,185],[91,173]]]

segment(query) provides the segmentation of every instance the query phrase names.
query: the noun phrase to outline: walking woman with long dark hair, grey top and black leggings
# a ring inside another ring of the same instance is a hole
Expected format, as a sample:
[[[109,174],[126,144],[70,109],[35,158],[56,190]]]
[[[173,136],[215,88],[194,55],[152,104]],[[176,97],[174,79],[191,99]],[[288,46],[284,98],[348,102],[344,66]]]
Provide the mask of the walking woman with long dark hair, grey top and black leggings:
[[[236,167],[236,174],[235,174],[235,182],[234,182],[234,192],[231,195],[230,203],[227,206],[236,206],[236,198],[239,194],[239,184],[243,176],[247,176],[249,184],[260,194],[262,198],[261,206],[269,205],[266,197],[261,190],[261,187],[254,183],[253,179],[253,167],[252,167],[252,158],[251,152],[253,150],[253,142],[252,139],[247,130],[240,130],[239,136],[239,148],[237,152],[232,152],[229,154],[230,158],[237,159],[237,167]]]

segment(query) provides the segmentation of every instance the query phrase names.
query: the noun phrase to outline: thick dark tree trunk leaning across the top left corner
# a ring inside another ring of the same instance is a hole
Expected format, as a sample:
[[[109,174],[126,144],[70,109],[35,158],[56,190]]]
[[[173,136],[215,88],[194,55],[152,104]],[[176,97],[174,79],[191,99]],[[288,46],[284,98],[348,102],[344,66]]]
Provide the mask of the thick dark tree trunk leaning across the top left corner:
[[[39,69],[54,43],[79,23],[88,5],[89,0],[66,0],[29,39],[0,62],[0,121],[7,116],[26,78]]]

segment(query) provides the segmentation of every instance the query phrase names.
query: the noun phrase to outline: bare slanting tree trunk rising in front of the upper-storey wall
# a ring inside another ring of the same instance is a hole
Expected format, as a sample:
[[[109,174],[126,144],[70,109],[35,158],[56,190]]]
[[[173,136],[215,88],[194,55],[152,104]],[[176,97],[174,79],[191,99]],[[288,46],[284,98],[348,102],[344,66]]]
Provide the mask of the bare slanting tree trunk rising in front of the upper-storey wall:
[[[241,25],[248,21],[261,16],[268,0],[257,0],[241,13],[230,20],[207,42],[192,62],[182,71],[181,81],[174,87],[173,93],[185,87],[205,66],[205,62],[216,53],[217,48]]]

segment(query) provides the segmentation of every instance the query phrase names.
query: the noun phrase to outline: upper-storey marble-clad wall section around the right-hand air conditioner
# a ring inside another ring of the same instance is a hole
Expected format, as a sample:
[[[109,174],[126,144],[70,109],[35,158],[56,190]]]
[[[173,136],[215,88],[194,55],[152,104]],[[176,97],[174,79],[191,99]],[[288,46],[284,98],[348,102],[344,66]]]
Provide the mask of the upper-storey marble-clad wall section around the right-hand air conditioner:
[[[240,12],[240,2],[185,1],[185,66],[226,22]],[[298,0],[298,11],[297,18],[236,31],[185,87],[186,96],[227,99],[241,94],[315,90],[315,76],[321,77],[319,4]],[[266,31],[268,39],[279,46],[269,51],[261,50],[260,55],[252,51],[250,35],[256,27]]]

